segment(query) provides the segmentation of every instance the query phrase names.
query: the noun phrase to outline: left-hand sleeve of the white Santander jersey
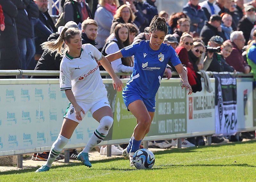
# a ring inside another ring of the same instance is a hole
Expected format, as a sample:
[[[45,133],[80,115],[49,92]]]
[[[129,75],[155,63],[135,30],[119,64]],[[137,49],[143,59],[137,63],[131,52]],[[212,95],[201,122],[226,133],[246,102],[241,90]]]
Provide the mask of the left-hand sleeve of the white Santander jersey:
[[[69,90],[72,89],[71,86],[71,73],[66,64],[60,65],[60,90]]]

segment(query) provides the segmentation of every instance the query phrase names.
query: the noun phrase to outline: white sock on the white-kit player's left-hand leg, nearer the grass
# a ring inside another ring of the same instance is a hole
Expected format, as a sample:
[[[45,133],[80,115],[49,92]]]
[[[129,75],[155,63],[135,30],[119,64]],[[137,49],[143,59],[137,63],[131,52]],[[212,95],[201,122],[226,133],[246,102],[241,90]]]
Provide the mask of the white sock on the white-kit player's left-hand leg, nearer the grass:
[[[53,161],[60,155],[61,150],[65,147],[68,141],[69,139],[65,138],[64,136],[58,136],[57,140],[52,144],[52,148],[47,159],[46,165],[48,167],[52,167]]]

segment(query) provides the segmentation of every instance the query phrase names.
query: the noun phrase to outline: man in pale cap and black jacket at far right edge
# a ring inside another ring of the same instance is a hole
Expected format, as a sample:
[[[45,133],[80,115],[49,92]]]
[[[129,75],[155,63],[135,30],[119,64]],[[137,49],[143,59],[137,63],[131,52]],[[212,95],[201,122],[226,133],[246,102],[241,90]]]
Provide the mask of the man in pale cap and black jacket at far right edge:
[[[247,45],[247,42],[250,39],[251,30],[255,25],[255,8],[252,5],[246,6],[244,12],[244,17],[238,22],[237,31],[242,31],[244,33],[245,45]]]

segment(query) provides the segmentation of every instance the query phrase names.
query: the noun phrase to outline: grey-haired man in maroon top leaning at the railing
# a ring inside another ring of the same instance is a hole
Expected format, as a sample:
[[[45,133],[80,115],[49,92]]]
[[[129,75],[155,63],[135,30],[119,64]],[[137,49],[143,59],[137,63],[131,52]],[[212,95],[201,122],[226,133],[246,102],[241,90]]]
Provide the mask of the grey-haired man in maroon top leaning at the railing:
[[[249,73],[250,66],[244,61],[242,56],[242,48],[244,47],[245,39],[242,31],[234,31],[230,35],[230,40],[233,45],[231,54],[226,58],[226,62],[233,66],[236,71]]]

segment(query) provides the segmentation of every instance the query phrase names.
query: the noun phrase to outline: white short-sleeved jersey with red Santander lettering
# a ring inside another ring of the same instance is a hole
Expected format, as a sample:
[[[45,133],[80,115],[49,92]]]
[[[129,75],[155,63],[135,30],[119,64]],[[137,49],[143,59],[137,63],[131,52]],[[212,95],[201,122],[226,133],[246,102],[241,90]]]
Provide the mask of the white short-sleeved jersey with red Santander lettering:
[[[73,58],[66,53],[60,63],[60,90],[72,89],[77,101],[91,102],[107,97],[96,62],[102,57],[91,44],[82,45],[80,57]]]

